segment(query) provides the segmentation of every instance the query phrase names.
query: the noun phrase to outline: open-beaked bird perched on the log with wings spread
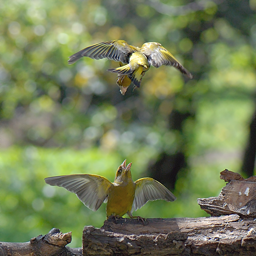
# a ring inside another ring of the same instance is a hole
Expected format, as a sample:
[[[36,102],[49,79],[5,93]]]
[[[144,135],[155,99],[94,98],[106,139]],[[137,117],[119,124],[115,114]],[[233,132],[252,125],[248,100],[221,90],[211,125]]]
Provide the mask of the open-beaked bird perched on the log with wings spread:
[[[126,166],[126,160],[118,167],[114,182],[95,174],[72,174],[45,178],[51,186],[64,187],[73,192],[92,211],[98,210],[101,204],[107,203],[107,218],[122,217],[141,208],[146,202],[163,199],[174,201],[176,197],[161,183],[152,178],[142,178],[133,182],[132,163]]]

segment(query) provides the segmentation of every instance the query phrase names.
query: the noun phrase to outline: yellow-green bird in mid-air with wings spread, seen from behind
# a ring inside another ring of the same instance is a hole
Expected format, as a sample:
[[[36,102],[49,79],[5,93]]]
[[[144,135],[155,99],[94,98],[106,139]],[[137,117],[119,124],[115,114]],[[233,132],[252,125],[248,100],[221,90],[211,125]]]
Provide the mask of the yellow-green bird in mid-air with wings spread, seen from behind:
[[[123,95],[130,86],[129,82],[134,84],[134,88],[140,87],[142,77],[151,65],[154,67],[173,66],[189,79],[193,77],[166,48],[157,42],[146,42],[139,48],[129,45],[124,40],[105,41],[88,46],[71,55],[68,64],[73,64],[82,57],[119,61],[120,67],[107,71],[117,73],[117,85]]]

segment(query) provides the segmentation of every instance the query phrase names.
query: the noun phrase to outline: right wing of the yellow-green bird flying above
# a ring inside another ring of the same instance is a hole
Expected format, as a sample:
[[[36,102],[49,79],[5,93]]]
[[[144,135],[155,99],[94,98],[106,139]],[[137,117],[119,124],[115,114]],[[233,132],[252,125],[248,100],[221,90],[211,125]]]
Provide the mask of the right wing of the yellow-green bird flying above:
[[[148,42],[142,45],[140,51],[146,55],[148,62],[154,67],[161,65],[173,66],[185,74],[188,78],[192,78],[192,74],[183,67],[176,58],[167,51],[160,43]]]

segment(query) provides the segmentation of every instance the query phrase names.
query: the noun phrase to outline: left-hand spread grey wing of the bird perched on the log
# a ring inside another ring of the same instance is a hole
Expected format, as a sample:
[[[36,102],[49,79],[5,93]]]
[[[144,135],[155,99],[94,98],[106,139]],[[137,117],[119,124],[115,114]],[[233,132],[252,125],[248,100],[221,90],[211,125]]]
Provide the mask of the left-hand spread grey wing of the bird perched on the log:
[[[92,211],[98,210],[107,201],[108,191],[113,184],[103,176],[95,174],[72,174],[45,178],[51,186],[64,187],[73,192]]]

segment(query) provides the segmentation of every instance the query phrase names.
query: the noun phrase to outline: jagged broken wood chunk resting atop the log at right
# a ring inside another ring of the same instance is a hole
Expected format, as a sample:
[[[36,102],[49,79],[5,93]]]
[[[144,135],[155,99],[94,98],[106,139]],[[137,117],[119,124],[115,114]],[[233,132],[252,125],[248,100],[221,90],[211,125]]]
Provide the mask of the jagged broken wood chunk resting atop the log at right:
[[[224,170],[220,178],[229,181],[218,197],[198,198],[201,209],[211,216],[239,214],[256,217],[256,176],[243,179],[239,173]]]

